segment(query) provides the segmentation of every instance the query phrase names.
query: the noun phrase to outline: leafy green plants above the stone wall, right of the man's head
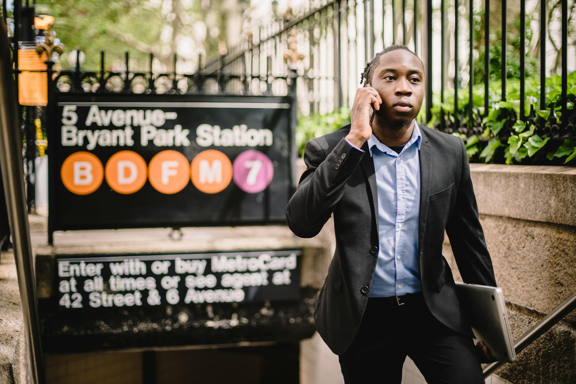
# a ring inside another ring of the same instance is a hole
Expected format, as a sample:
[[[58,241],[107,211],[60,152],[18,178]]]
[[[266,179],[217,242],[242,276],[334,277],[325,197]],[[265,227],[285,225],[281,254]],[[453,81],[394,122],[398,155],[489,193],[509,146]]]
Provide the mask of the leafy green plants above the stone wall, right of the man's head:
[[[548,121],[551,110],[540,110],[539,97],[540,97],[540,79],[537,77],[526,78],[525,86],[525,105],[524,114],[530,113],[530,106],[535,108],[536,117],[535,124],[540,125]],[[503,149],[503,162],[506,164],[526,163],[526,157],[532,158],[539,152],[540,149],[545,148],[548,151],[545,156],[548,161],[539,155],[533,159],[532,164],[537,163],[558,163],[554,157],[561,158],[567,156],[564,164],[571,161],[576,156],[571,156],[572,148],[571,140],[564,141],[560,145],[558,140],[550,140],[550,138],[542,138],[534,134],[534,126],[528,125],[520,120],[520,81],[517,79],[509,79],[506,87],[506,101],[502,101],[502,89],[500,81],[491,81],[488,86],[488,114],[484,116],[484,85],[475,85],[472,88],[472,102],[473,102],[473,119],[477,119],[478,115],[482,118],[483,126],[486,127],[483,133],[476,137],[478,140],[468,140],[464,135],[453,133],[458,137],[462,137],[467,142],[468,157],[473,160],[499,162],[501,157],[494,157],[499,151]],[[551,76],[546,80],[545,99],[547,106],[554,106],[556,114],[556,123],[560,123],[562,116],[561,106],[561,93],[562,93],[562,78],[558,75]],[[568,75],[568,103],[567,107],[569,113],[572,113],[574,103],[576,102],[576,72]],[[468,89],[458,90],[458,109],[467,110],[468,108]],[[432,118],[427,123],[430,127],[437,127],[439,125],[441,115],[443,114],[446,119],[454,123],[454,90],[446,89],[444,103],[440,103],[439,95],[433,95],[434,105],[431,108]],[[461,110],[461,111],[462,111]],[[420,111],[419,119],[423,121],[424,109]],[[461,124],[468,124],[468,114],[461,113]],[[503,128],[510,128],[510,136],[507,138],[500,137],[499,132]],[[479,148],[479,146],[481,148]],[[501,148],[502,147],[502,148]],[[474,157],[477,153],[478,157]],[[526,159],[523,161],[523,159]]]

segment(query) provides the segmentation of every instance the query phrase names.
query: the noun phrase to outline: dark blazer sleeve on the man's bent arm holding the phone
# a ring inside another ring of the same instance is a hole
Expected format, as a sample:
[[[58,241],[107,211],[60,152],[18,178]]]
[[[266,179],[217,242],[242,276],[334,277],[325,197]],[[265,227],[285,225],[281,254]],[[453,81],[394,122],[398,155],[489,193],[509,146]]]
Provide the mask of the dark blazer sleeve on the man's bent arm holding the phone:
[[[312,238],[320,232],[342,198],[346,180],[363,154],[363,150],[349,144],[346,138],[342,138],[328,155],[316,139],[306,143],[306,171],[286,206],[288,226],[295,235]]]

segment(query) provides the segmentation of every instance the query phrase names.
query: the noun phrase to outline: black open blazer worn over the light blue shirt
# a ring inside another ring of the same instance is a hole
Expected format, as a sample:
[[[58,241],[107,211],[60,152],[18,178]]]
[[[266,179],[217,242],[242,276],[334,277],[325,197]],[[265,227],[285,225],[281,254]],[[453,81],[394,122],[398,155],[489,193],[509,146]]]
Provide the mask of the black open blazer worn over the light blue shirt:
[[[431,313],[446,326],[473,336],[461,310],[448,262],[444,229],[465,283],[496,286],[490,254],[478,219],[464,141],[419,125],[420,281]],[[358,331],[378,257],[378,202],[374,163],[344,137],[350,125],[308,141],[308,167],[286,207],[288,225],[301,238],[316,236],[334,214],[336,251],[320,290],[314,323],[337,355]]]

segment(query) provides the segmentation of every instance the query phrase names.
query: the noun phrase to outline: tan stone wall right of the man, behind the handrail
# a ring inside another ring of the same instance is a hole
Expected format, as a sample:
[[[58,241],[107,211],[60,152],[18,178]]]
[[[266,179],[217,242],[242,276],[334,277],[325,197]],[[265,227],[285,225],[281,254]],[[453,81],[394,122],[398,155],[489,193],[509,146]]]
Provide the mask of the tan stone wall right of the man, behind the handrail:
[[[471,164],[480,221],[514,340],[576,292],[576,168]],[[461,280],[448,236],[443,254]],[[497,371],[516,383],[576,382],[576,311]]]

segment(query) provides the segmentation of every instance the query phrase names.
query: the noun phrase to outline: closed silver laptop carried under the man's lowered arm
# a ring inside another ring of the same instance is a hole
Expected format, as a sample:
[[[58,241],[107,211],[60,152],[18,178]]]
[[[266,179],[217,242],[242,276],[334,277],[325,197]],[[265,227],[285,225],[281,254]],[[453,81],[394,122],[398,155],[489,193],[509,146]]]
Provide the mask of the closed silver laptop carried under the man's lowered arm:
[[[474,344],[484,341],[494,359],[516,362],[502,289],[460,281],[455,283],[458,299],[467,311],[468,321],[476,336]]]

